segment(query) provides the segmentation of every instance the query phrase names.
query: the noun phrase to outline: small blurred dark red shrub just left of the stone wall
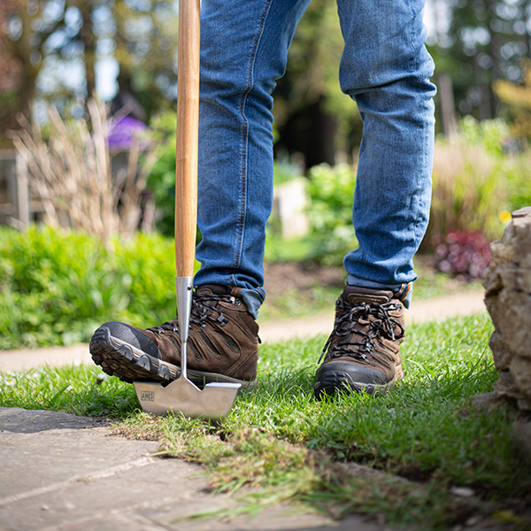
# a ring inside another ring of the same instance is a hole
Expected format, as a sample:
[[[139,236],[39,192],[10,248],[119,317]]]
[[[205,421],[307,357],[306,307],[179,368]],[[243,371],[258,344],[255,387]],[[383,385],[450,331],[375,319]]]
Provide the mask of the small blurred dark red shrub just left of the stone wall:
[[[481,279],[490,263],[489,244],[480,231],[439,236],[434,252],[437,269],[463,281]]]

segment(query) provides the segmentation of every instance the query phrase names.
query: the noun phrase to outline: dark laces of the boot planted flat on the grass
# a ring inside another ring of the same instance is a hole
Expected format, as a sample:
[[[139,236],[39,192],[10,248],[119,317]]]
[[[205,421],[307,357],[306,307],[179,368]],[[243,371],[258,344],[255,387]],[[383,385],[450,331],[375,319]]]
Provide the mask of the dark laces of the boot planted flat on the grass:
[[[330,358],[350,356],[350,358],[368,361],[367,354],[373,354],[376,347],[375,341],[381,337],[386,337],[391,341],[404,337],[404,327],[389,315],[389,312],[393,310],[400,310],[399,303],[350,304],[340,297],[336,305],[342,309],[342,312],[338,312],[335,318],[334,331],[328,337],[318,363],[330,350],[335,340],[337,342],[329,352]],[[369,319],[369,316],[373,316],[373,319]],[[368,321],[366,330],[357,326],[360,319]],[[361,336],[361,341],[352,341],[355,334]]]

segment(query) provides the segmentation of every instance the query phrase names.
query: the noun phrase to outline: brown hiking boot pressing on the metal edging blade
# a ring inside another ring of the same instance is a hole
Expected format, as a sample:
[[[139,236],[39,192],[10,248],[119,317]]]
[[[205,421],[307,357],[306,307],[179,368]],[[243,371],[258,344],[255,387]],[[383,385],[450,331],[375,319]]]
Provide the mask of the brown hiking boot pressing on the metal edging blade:
[[[189,380],[203,388],[212,381],[256,385],[258,324],[230,288],[204,285],[192,299],[188,340]],[[170,382],[181,374],[177,318],[146,330],[111,321],[90,341],[94,362],[120,380]]]

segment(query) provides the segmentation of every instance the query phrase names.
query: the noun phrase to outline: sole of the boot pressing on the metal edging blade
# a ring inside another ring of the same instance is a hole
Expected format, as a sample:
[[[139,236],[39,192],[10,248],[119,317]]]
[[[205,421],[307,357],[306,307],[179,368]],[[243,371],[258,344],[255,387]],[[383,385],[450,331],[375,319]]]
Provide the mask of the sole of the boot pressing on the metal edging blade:
[[[181,367],[154,358],[135,346],[111,335],[109,328],[99,327],[89,345],[94,363],[101,366],[104,373],[117,376],[121,381],[160,381],[170,383],[181,376]],[[187,370],[190,381],[203,389],[207,383],[228,382],[240,383],[242,390],[255,389],[256,380],[246,381],[231,378],[224,374],[207,373],[204,371]]]

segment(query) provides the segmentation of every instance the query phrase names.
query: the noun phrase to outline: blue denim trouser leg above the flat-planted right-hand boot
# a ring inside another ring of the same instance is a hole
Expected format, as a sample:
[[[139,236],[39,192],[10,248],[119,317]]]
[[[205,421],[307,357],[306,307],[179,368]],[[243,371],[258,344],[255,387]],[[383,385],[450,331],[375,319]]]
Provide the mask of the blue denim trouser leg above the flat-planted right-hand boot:
[[[344,259],[350,285],[396,291],[416,279],[412,258],[427,228],[435,125],[424,4],[338,0],[340,81],[364,123],[353,209],[359,247]]]

